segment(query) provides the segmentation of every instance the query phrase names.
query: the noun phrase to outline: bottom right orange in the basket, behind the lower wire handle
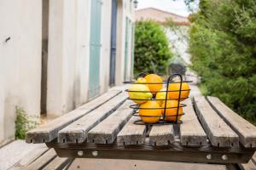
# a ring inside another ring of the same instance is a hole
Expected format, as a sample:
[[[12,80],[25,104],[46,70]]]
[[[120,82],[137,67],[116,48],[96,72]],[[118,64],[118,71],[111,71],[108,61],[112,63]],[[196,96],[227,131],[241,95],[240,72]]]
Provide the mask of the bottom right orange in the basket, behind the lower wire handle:
[[[178,113],[177,113],[177,105],[178,102],[176,99],[174,100],[167,100],[166,102],[166,108],[170,108],[170,109],[166,109],[166,121],[171,121],[171,122],[176,122],[176,116],[177,116],[177,120],[179,121],[182,114],[183,114],[183,108],[181,107],[181,104],[179,104],[179,108],[178,108]],[[165,107],[165,103],[162,105],[162,107]],[[162,115],[164,115],[165,109],[162,109]]]

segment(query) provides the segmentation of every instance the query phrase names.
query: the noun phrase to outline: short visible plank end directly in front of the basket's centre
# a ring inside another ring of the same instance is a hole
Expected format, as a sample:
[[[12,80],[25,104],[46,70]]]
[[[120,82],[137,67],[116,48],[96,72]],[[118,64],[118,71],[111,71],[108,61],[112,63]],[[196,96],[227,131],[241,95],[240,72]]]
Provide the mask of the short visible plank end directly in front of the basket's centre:
[[[149,144],[168,145],[174,141],[173,125],[154,125],[149,133]]]

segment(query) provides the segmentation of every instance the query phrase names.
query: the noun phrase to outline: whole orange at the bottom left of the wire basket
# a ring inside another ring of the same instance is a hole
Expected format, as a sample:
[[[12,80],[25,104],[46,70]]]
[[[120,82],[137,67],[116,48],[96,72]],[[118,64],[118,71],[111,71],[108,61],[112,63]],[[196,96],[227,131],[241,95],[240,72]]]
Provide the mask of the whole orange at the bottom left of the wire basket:
[[[143,105],[140,105],[139,116],[145,123],[155,123],[160,121],[161,109],[160,105],[155,100],[149,100]]]

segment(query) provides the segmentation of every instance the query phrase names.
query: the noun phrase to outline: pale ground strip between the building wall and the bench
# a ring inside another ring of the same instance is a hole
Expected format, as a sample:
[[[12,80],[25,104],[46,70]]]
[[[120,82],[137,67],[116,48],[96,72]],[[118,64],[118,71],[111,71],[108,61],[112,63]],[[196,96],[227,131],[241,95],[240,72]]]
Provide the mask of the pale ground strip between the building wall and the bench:
[[[0,148],[0,170],[8,169],[29,152],[40,147],[45,147],[45,144],[26,144],[24,140],[15,140],[3,146]]]

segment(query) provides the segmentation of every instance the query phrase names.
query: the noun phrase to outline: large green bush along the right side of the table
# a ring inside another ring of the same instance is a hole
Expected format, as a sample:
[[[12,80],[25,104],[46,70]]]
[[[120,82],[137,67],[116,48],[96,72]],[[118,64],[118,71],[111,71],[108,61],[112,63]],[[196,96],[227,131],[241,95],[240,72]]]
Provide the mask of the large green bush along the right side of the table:
[[[190,19],[192,67],[205,94],[256,123],[256,3],[201,0]]]

